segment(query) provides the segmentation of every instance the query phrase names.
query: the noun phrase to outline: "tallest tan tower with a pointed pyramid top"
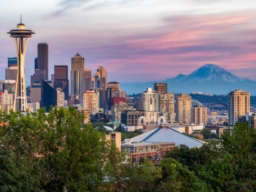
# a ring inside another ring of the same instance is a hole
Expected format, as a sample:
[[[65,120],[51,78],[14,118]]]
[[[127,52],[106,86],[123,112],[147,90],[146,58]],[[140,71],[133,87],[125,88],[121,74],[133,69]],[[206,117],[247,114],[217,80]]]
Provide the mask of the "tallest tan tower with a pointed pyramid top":
[[[71,98],[84,93],[84,58],[77,54],[71,59]]]

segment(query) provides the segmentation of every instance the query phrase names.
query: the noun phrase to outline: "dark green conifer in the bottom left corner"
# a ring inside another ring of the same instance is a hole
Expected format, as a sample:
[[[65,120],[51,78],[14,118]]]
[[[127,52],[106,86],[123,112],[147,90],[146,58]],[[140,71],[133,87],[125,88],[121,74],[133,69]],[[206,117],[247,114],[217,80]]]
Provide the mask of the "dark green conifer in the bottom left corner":
[[[0,151],[0,191],[40,191],[36,189],[36,177],[24,172],[21,164],[15,164],[9,151]]]

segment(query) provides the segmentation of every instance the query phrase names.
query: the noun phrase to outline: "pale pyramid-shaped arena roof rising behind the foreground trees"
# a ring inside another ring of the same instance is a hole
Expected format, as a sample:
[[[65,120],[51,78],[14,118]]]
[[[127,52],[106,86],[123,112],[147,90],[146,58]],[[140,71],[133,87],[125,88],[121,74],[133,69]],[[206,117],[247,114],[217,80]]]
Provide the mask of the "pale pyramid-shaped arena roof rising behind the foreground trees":
[[[195,138],[189,137],[179,131],[176,131],[167,125],[159,125],[151,131],[143,133],[139,136],[132,138],[133,142],[141,141],[152,141],[152,142],[175,142],[175,145],[185,144],[189,148],[200,147],[204,141],[197,140]]]

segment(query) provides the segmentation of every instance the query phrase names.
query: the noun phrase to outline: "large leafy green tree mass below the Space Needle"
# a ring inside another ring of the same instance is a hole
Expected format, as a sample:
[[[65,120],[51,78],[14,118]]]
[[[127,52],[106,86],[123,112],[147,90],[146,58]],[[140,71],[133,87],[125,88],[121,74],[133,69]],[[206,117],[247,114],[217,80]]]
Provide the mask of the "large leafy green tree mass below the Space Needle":
[[[108,143],[92,125],[81,128],[83,115],[73,107],[38,113],[1,113],[1,147],[12,149],[15,163],[24,163],[49,191],[100,190],[104,187]]]

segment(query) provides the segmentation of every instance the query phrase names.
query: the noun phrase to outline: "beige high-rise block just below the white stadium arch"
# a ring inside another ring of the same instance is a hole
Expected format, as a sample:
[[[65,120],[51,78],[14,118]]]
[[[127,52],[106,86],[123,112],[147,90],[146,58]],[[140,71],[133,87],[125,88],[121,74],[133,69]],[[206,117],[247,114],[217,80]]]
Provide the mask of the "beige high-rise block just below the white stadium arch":
[[[195,125],[207,125],[207,107],[201,105],[192,106],[191,123]]]

